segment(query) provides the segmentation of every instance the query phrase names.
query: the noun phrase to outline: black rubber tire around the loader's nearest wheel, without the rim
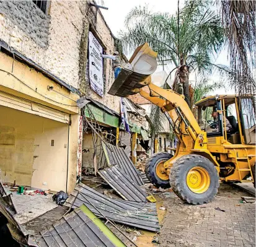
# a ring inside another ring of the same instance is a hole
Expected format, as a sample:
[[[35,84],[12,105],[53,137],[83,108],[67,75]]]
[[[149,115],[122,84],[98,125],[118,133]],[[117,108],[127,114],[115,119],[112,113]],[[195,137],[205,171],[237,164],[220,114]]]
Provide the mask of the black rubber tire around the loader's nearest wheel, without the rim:
[[[193,167],[202,167],[210,176],[210,186],[205,193],[193,193],[187,186],[187,174]],[[179,158],[170,169],[170,186],[177,196],[189,204],[210,202],[216,196],[219,188],[219,175],[213,163],[201,155],[190,154]]]

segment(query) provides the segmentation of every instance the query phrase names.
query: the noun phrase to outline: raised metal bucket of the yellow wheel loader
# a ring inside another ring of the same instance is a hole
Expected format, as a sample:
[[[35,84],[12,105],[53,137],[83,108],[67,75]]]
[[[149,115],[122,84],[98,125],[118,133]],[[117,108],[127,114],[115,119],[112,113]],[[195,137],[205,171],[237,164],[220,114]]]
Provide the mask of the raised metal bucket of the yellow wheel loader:
[[[112,84],[109,94],[128,97],[135,94],[135,89],[141,89],[151,82],[151,74],[156,71],[157,53],[144,43],[135,50],[128,64],[121,69],[115,82]]]

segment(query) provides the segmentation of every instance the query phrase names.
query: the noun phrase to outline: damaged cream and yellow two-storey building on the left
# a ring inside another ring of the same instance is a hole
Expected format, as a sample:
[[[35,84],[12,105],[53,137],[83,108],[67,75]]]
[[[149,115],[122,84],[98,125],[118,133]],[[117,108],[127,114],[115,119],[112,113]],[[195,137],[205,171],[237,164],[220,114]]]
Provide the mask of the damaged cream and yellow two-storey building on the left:
[[[112,62],[90,61],[95,50],[116,49],[95,2],[0,1],[0,26],[3,183],[73,191],[82,170],[93,167],[92,134],[83,131],[76,105],[82,96],[104,134],[120,139],[131,154],[133,133],[140,130],[135,121],[131,134],[123,131],[120,98],[107,94]]]

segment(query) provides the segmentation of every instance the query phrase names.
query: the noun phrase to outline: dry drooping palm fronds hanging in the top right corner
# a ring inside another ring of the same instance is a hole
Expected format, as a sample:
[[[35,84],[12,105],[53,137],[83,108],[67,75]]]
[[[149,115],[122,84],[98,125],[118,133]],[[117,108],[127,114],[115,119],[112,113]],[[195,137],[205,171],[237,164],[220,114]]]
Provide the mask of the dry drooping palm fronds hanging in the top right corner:
[[[239,94],[254,94],[255,72],[253,75],[252,69],[255,68],[256,53],[256,1],[217,2],[228,40],[230,67],[234,74],[231,82]]]

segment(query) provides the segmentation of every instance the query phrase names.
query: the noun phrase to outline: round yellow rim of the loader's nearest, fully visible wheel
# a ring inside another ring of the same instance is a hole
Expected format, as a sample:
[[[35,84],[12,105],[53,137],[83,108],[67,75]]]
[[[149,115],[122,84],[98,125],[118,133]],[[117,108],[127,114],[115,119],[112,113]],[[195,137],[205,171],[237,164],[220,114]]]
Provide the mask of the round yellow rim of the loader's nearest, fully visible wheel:
[[[202,194],[210,187],[211,178],[203,167],[193,167],[187,174],[187,186],[193,193]]]

